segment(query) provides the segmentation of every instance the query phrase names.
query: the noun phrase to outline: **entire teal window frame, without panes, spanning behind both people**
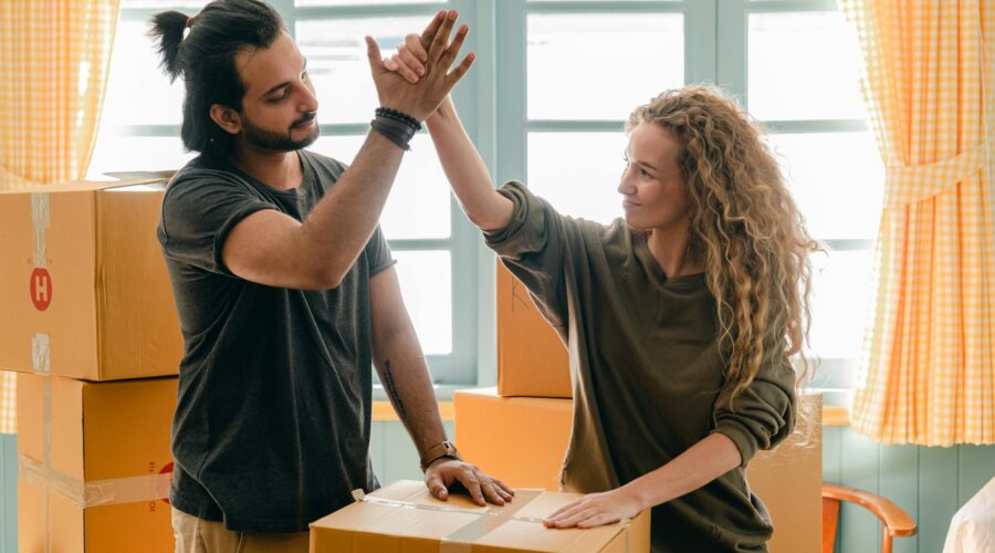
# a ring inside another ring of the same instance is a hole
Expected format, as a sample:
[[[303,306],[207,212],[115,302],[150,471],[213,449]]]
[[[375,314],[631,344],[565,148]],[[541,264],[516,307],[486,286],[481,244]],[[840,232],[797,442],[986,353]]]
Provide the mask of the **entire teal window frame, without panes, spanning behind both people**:
[[[491,168],[495,185],[527,181],[528,133],[618,133],[621,121],[528,119],[526,115],[526,18],[530,13],[682,13],[684,82],[718,83],[748,108],[747,19],[750,13],[836,11],[836,0],[449,0],[384,6],[295,7],[293,0],[271,0],[294,34],[298,21],[327,18],[425,15],[457,9],[471,27],[464,52],[478,54],[471,73],[453,91],[461,118]],[[143,20],[165,8],[122,8],[123,20]],[[180,8],[182,9],[182,8]],[[192,12],[193,8],[186,11]],[[419,29],[412,29],[417,32]],[[771,133],[837,133],[866,131],[859,119],[766,121]],[[322,124],[322,136],[363,135],[362,124]],[[169,136],[178,125],[134,125],[113,134]],[[495,255],[450,196],[451,236],[447,239],[390,240],[395,251],[448,250],[452,255],[452,352],[428,356],[437,395],[496,383]],[[819,237],[816,237],[819,238]],[[873,249],[873,240],[824,240],[830,251]],[[821,358],[828,380],[849,387],[857,359]],[[378,396],[383,397],[378,392]]]

